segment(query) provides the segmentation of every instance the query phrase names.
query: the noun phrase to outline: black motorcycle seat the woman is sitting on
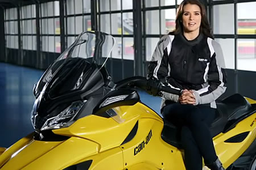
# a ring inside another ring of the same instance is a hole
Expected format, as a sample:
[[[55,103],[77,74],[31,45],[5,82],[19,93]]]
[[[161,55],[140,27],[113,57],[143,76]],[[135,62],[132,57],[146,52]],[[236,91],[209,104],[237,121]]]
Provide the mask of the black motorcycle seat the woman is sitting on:
[[[224,100],[217,102],[216,104],[216,116],[212,125],[210,125],[210,133],[212,134],[212,137],[215,137],[220,133],[226,133],[226,131],[234,128],[239,121],[254,112],[256,108],[251,107],[251,104],[240,94],[234,94],[226,97]],[[180,142],[180,128],[176,127],[164,118],[163,121],[163,141],[172,146],[182,148]]]

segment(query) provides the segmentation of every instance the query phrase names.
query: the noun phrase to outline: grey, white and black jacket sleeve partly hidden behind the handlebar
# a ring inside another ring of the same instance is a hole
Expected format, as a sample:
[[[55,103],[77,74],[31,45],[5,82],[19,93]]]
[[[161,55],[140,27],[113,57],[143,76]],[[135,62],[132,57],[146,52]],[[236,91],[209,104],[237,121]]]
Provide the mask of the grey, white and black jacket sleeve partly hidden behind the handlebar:
[[[170,75],[170,65],[168,63],[168,56],[171,52],[171,42],[174,36],[163,36],[156,45],[150,64],[148,65],[147,79],[156,78],[163,83],[163,86],[171,86],[168,83],[167,77]],[[162,92],[163,98],[172,101],[178,101],[179,96]]]

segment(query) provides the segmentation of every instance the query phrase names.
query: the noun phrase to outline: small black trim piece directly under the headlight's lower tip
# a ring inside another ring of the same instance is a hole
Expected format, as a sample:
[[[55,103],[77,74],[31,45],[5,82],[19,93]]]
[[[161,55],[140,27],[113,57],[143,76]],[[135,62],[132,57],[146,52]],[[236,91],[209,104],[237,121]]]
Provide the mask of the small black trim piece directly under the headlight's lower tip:
[[[60,142],[60,141],[66,141],[70,137],[63,136],[63,135],[57,135],[53,133],[52,130],[43,130],[40,131],[40,133],[35,132],[34,139],[35,141],[45,141],[45,142]]]

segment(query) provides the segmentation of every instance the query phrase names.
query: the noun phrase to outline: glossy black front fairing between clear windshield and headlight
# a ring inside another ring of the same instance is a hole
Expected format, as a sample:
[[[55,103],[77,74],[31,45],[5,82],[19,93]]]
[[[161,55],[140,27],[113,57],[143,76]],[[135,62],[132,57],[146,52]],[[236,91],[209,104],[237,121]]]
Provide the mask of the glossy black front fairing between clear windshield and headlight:
[[[40,129],[46,118],[56,116],[72,102],[88,100],[90,96],[101,93],[104,76],[96,63],[89,63],[83,58],[67,59],[47,85],[43,102],[37,109],[35,128]]]

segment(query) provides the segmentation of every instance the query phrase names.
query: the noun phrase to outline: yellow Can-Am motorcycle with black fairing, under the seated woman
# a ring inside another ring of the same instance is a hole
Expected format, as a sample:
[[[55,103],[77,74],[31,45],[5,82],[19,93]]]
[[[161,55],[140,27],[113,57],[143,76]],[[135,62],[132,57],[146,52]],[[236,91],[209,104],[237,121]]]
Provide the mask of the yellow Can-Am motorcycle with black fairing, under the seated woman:
[[[49,66],[33,90],[35,131],[0,148],[0,169],[185,170],[179,130],[137,90],[180,92],[141,76],[114,83],[113,49],[112,36],[84,32]],[[256,101],[235,94],[217,107],[210,131],[224,167],[255,170]]]

